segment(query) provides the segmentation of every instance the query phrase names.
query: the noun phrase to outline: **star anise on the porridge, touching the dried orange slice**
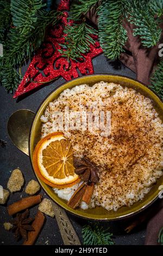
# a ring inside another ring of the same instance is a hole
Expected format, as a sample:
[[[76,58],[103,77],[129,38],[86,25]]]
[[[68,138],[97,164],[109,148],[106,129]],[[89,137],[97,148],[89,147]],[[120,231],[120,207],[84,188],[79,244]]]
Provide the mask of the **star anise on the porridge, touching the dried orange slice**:
[[[91,163],[89,159],[74,159],[75,173],[81,175],[82,180],[90,182],[98,182],[98,168],[95,164]]]

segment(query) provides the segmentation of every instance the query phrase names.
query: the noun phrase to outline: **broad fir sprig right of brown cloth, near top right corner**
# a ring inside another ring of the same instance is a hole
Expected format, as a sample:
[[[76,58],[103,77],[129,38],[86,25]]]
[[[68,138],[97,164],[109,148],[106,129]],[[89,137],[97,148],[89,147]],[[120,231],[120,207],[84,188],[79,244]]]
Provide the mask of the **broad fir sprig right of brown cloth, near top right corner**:
[[[134,24],[134,36],[140,36],[142,45],[152,47],[160,40],[161,28],[157,19],[154,19],[146,0],[129,0],[129,22]]]

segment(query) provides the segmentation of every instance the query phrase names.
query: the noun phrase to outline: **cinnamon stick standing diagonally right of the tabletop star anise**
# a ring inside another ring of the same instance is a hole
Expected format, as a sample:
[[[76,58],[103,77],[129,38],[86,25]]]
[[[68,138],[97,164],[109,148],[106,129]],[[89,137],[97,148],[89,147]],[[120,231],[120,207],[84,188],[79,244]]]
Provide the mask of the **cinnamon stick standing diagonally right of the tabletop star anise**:
[[[44,221],[45,221],[45,216],[42,214],[41,211],[37,211],[35,220],[32,223],[32,227],[34,228],[34,231],[28,232],[28,239],[27,239],[27,241],[23,242],[23,245],[33,245],[34,244],[37,236],[39,235],[39,233],[42,229]]]

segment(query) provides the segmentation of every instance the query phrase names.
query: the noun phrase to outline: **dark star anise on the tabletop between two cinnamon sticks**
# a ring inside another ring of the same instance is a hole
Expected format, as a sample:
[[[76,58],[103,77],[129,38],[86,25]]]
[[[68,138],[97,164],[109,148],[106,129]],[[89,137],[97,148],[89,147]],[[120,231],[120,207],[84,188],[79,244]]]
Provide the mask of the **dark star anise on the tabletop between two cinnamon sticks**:
[[[34,231],[34,228],[29,223],[33,222],[33,218],[28,218],[29,210],[27,209],[22,214],[17,214],[16,218],[11,221],[11,224],[14,225],[12,231],[15,232],[16,240],[19,240],[21,237],[23,239],[28,239],[28,231]]]

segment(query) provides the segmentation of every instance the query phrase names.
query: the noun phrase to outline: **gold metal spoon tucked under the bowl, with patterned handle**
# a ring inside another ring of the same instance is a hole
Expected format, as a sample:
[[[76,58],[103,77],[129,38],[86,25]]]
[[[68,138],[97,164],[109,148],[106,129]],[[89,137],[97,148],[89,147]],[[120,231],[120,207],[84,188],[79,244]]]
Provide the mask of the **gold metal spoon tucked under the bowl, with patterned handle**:
[[[29,131],[35,113],[28,109],[20,109],[11,114],[8,120],[8,133],[14,145],[29,156],[28,143]],[[57,204],[54,204],[55,218],[57,220],[60,234],[64,245],[81,245],[76,231],[73,228],[66,212]]]

